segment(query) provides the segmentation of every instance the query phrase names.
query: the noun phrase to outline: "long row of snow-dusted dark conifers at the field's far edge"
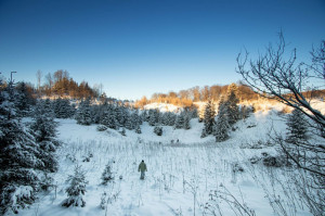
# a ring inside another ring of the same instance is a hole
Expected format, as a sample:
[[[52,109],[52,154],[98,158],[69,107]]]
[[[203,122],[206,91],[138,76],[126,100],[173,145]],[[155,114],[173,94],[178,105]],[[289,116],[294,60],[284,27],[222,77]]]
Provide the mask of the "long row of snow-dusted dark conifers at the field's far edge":
[[[65,115],[70,117],[74,112],[70,112],[70,106],[67,104],[60,106],[61,113],[69,113]],[[74,109],[73,109],[74,110]],[[55,113],[58,111],[55,110]],[[63,118],[65,118],[65,116]],[[57,116],[61,117],[61,116]],[[80,125],[100,124],[99,130],[107,128],[119,130],[125,135],[125,129],[134,130],[141,134],[140,126],[143,122],[147,122],[150,126],[155,127],[154,132],[161,136],[161,126],[173,126],[176,129],[190,129],[190,120],[197,117],[195,109],[184,109],[179,114],[171,112],[160,112],[159,110],[143,110],[131,107],[119,102],[104,102],[102,104],[92,104],[89,99],[80,102],[75,116]]]

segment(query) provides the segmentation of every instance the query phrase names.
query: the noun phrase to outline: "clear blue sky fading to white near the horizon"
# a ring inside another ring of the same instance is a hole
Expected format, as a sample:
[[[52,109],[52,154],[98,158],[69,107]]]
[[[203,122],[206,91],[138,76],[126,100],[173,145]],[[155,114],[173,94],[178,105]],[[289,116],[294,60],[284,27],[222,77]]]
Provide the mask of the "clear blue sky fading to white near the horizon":
[[[281,29],[308,58],[325,39],[325,1],[0,0],[0,72],[36,84],[38,69],[66,69],[140,99],[238,81],[238,52],[262,52]]]

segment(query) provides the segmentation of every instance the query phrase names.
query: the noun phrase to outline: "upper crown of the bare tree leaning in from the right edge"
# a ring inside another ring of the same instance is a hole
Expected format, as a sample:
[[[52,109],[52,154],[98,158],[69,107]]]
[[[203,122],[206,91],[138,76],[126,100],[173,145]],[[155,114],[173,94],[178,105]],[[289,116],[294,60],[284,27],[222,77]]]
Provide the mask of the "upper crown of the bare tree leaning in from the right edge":
[[[303,93],[324,88],[325,40],[318,50],[313,50],[311,65],[297,63],[296,49],[292,50],[288,59],[285,59],[285,48],[286,42],[281,33],[277,47],[274,49],[270,46],[266,53],[260,55],[258,60],[248,61],[247,51],[244,54],[239,53],[237,56],[237,73],[257,93],[276,99],[286,105],[300,110],[315,123],[315,127],[321,132],[320,135],[325,138],[323,131],[325,116],[312,107],[310,100]],[[311,86],[309,81],[313,82],[314,86]]]

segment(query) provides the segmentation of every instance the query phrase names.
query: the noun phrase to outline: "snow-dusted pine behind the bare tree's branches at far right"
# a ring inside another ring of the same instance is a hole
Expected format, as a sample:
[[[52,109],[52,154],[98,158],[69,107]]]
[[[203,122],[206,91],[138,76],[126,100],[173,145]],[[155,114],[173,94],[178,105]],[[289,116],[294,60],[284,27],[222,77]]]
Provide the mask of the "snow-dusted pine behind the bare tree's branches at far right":
[[[286,125],[286,151],[294,156],[295,160],[301,162],[301,160],[306,157],[306,152],[303,152],[304,148],[301,148],[301,145],[308,141],[308,122],[301,111],[295,109],[292,113],[289,114]]]

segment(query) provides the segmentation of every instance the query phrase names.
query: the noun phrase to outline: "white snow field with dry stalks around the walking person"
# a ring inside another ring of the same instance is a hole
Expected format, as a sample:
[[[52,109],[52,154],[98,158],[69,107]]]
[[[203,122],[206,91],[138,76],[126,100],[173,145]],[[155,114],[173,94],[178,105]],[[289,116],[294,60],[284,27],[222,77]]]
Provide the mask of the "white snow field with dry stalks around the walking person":
[[[141,135],[127,130],[126,137],[110,129],[96,131],[96,125],[81,126],[74,119],[60,119],[58,123],[58,139],[64,145],[57,151],[60,169],[53,176],[56,190],[53,188],[41,194],[18,215],[192,216],[213,215],[213,212],[224,216],[245,215],[238,212],[239,205],[242,213],[245,208],[255,211],[250,215],[278,215],[270,202],[275,209],[283,207],[288,215],[311,215],[295,194],[291,199],[284,195],[283,185],[277,183],[285,181],[283,171],[289,170],[249,161],[262,152],[275,154],[274,147],[268,144],[263,149],[247,148],[268,143],[272,128],[285,132],[286,125],[275,111],[251,114],[237,123],[238,128],[232,131],[231,139],[219,143],[212,136],[200,138],[203,124],[197,118],[191,120],[190,130],[162,127],[161,137],[157,137],[146,123],[141,126]],[[90,153],[93,154],[90,161],[82,162]],[[112,160],[115,161],[115,180],[102,186],[101,175]],[[148,169],[145,180],[140,180],[138,173],[141,160]],[[66,208],[61,206],[67,198],[66,179],[77,164],[81,165],[89,181],[86,206]],[[108,202],[102,209],[100,203],[104,192]]]

